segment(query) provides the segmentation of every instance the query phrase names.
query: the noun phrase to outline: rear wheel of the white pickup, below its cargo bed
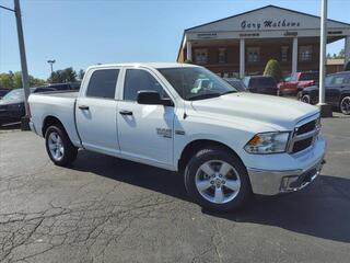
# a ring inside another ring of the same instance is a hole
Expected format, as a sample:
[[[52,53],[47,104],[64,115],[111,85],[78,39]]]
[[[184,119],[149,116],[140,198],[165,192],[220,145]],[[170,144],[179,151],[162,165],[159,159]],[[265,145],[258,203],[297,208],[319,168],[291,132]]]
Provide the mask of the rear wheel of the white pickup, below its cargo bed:
[[[67,167],[77,159],[78,148],[72,145],[65,128],[59,124],[46,129],[45,146],[56,165]]]

